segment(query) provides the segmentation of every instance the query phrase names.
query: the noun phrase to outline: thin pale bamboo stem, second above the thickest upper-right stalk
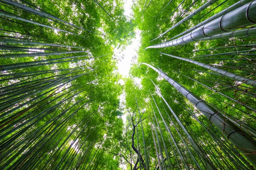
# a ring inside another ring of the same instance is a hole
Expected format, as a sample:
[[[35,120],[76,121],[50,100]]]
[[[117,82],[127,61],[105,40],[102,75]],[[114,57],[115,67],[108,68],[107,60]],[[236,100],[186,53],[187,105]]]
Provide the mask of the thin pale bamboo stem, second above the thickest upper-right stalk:
[[[187,17],[183,18],[182,20],[180,20],[178,23],[176,23],[174,26],[172,26],[171,28],[169,28],[168,30],[166,30],[163,34],[160,34],[157,38],[155,38],[154,40],[157,40],[158,38],[162,37],[163,35],[165,35],[166,33],[168,33],[169,31],[171,31],[172,29],[176,28],[177,26],[179,26],[180,24],[185,23],[187,20],[191,19],[192,17],[194,17],[196,14],[200,13],[201,11],[203,11],[204,9],[208,8],[209,6],[211,6],[212,4],[218,2],[218,0],[209,0],[207,3],[204,3],[204,5],[200,6],[199,8],[197,8],[194,12],[190,13]],[[151,41],[154,41],[151,40]]]

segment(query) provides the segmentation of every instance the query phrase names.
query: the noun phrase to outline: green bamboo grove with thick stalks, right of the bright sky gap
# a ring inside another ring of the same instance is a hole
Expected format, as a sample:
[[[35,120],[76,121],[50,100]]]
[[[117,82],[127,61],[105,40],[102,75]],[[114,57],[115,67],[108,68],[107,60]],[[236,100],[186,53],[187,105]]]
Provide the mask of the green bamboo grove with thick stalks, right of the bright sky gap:
[[[131,79],[125,88],[130,121],[144,129],[134,169],[255,169],[255,4],[134,5],[141,47],[130,73],[141,85]]]

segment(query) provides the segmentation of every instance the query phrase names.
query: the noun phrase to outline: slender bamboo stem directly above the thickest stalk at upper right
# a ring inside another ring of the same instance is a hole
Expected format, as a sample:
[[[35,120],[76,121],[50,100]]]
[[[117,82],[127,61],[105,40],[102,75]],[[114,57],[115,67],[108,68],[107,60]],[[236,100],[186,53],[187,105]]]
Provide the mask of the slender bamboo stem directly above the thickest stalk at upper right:
[[[237,8],[241,7],[241,6],[244,6],[245,4],[250,3],[251,1],[252,1],[252,0],[240,0],[240,1],[236,2],[236,3],[234,3],[233,5],[229,6],[228,8],[226,8],[226,9],[224,9],[224,10],[218,12],[217,14],[213,15],[212,17],[209,17],[208,19],[204,20],[203,22],[197,24],[196,26],[187,29],[186,31],[184,31],[184,32],[182,32],[182,33],[176,35],[175,37],[172,37],[170,40],[173,40],[173,39],[175,39],[175,38],[177,38],[177,37],[180,37],[181,35],[184,35],[184,34],[186,34],[186,33],[189,33],[190,31],[193,31],[193,30],[195,30],[196,28],[201,27],[201,26],[203,26],[204,24],[207,24],[207,23],[209,23],[209,22],[212,21],[212,20],[215,20],[216,18],[221,17],[221,16],[224,15],[224,14],[227,14],[227,13],[229,13],[229,12],[231,12],[231,11],[234,11],[234,10],[236,10]]]

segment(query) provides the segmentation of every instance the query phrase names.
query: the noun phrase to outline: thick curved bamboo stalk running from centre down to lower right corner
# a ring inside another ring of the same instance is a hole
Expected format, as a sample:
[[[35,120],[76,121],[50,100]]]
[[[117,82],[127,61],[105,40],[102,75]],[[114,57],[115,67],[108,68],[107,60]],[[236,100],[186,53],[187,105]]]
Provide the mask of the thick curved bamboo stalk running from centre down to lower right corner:
[[[256,143],[246,132],[242,131],[239,127],[230,122],[230,120],[226,119],[224,115],[219,113],[219,111],[216,111],[214,108],[208,105],[207,102],[204,102],[198,96],[187,90],[175,80],[168,77],[166,74],[163,74],[161,71],[151,65],[146,63],[141,64],[152,68],[161,77],[166,79],[172,86],[174,86],[183,96],[186,97],[186,99],[188,99],[199,111],[201,111],[201,113],[203,113],[204,116],[206,116],[207,119],[209,119],[209,121],[218,128],[218,130],[223,132],[223,135],[227,137],[231,143],[236,145],[240,152],[243,153],[252,164],[256,165],[256,157],[253,153],[253,150],[256,150]]]

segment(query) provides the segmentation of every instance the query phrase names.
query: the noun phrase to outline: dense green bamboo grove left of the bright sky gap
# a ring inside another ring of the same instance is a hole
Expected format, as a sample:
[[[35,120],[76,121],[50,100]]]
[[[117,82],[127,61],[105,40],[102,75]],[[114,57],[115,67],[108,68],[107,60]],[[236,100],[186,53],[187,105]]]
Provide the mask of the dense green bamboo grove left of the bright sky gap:
[[[96,2],[0,1],[0,169],[118,168],[113,46],[134,32]]]

